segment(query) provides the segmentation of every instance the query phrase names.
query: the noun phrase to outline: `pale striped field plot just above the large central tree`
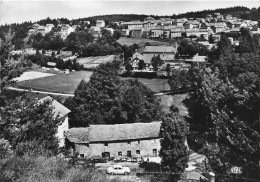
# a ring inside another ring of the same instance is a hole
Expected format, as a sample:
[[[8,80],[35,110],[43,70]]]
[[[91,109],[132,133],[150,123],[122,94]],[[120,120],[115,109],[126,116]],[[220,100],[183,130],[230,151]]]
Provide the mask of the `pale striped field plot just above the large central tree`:
[[[112,62],[115,59],[118,59],[118,55],[78,58],[77,62],[82,64],[84,68],[96,68],[101,63]]]

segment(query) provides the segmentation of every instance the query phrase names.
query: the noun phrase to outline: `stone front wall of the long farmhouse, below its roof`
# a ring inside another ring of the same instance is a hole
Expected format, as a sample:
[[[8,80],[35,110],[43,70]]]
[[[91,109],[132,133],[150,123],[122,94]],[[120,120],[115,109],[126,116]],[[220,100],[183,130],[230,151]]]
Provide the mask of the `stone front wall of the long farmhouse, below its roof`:
[[[103,152],[109,152],[110,157],[127,156],[127,151],[131,151],[131,156],[155,156],[159,155],[160,139],[140,139],[135,141],[121,141],[108,143],[75,144],[75,151],[84,154],[84,157],[102,156]],[[140,154],[138,154],[140,151]],[[128,152],[129,154],[129,152]]]

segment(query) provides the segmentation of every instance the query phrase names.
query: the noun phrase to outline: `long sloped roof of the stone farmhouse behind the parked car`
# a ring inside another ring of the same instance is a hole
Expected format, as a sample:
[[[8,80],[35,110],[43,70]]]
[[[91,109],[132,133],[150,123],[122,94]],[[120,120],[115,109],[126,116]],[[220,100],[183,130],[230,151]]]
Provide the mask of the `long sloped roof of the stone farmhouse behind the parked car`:
[[[161,122],[90,125],[88,128],[72,128],[66,136],[75,143],[158,138],[160,127]]]

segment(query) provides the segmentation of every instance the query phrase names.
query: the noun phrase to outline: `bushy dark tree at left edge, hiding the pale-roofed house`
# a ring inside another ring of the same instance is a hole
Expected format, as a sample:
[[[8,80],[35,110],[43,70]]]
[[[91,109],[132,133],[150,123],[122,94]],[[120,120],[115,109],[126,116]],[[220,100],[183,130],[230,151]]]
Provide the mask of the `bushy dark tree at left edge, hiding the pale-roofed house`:
[[[55,134],[61,120],[54,117],[50,100],[39,103],[17,97],[6,104],[1,112],[1,132],[16,152],[38,149],[57,152]]]

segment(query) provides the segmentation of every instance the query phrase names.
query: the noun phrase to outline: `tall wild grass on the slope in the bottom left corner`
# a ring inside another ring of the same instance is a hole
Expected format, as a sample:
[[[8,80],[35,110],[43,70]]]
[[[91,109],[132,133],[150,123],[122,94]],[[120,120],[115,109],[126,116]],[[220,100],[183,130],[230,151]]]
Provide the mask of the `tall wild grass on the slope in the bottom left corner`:
[[[0,161],[1,182],[133,182],[135,179],[107,176],[94,168],[75,168],[58,157],[24,155]]]

